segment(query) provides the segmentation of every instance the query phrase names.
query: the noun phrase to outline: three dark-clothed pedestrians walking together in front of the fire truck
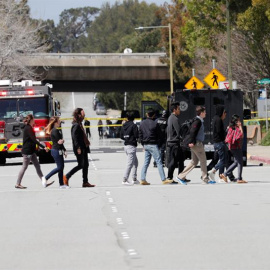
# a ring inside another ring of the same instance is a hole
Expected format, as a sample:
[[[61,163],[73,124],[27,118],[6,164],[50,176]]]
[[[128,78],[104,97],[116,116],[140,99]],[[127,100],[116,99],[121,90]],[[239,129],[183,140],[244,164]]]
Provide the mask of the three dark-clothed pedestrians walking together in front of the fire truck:
[[[70,170],[66,175],[64,175],[64,156],[66,157],[66,148],[64,146],[64,139],[62,131],[60,128],[61,121],[59,117],[52,117],[49,124],[45,128],[45,132],[51,136],[52,140],[52,149],[51,155],[55,160],[57,167],[49,172],[46,176],[43,175],[40,164],[36,155],[36,145],[44,149],[46,152],[49,151],[47,147],[41,144],[35,136],[34,125],[35,119],[32,114],[26,116],[24,123],[23,131],[23,146],[22,146],[22,156],[23,156],[23,165],[19,172],[17,183],[15,188],[25,189],[26,187],[22,185],[22,179],[28,165],[32,161],[33,165],[36,168],[37,174],[41,180],[42,186],[44,188],[53,184],[54,181],[48,182],[48,180],[55,174],[58,174],[59,178],[59,187],[61,189],[69,188],[70,178],[79,170],[82,170],[82,187],[94,187],[88,181],[88,153],[90,153],[90,142],[87,138],[86,132],[83,128],[82,122],[85,118],[85,112],[82,108],[77,108],[73,112],[73,122],[71,127],[71,137],[72,137],[72,146],[73,152],[77,159],[77,166]]]

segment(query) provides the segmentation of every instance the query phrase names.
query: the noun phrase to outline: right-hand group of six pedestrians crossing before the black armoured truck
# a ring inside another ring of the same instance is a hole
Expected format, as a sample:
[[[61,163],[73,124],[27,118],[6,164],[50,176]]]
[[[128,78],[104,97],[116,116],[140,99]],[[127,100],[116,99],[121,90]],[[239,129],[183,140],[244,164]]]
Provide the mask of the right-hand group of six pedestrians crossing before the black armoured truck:
[[[193,119],[189,132],[185,138],[182,138],[180,135],[179,117],[181,116],[179,102],[172,103],[170,109],[171,115],[167,119],[166,129],[164,129],[164,116],[162,116],[161,120],[156,119],[155,111],[153,109],[148,110],[147,119],[141,122],[139,128],[133,123],[133,115],[127,115],[127,121],[123,124],[121,131],[121,139],[124,140],[124,148],[127,155],[127,166],[122,184],[150,185],[146,180],[146,174],[151,157],[154,158],[163,184],[180,183],[182,185],[187,185],[187,183],[190,182],[190,180],[187,179],[187,175],[199,162],[202,184],[215,184],[215,175],[217,171],[219,171],[218,176],[220,182],[228,182],[229,177],[230,181],[239,184],[247,183],[247,181],[242,178],[243,129],[238,115],[232,116],[229,127],[225,129],[224,119],[226,118],[227,112],[223,105],[216,106],[216,115],[212,122],[215,155],[209,166],[207,166],[206,153],[203,144],[205,139],[205,107],[196,107],[196,117]],[[138,140],[142,144],[145,152],[140,181],[137,179],[138,159],[136,156],[136,147]],[[191,161],[186,167],[184,166],[186,159],[184,147],[188,147],[191,151]],[[165,163],[168,167],[167,177],[165,176],[163,168],[164,162],[162,156],[164,156],[164,148],[166,148]],[[233,157],[233,162],[230,161],[231,156]],[[238,167],[237,178],[233,175],[233,170],[236,167]],[[176,168],[178,168],[178,175],[174,180],[173,174]],[[227,168],[226,171],[225,168]],[[133,180],[129,181],[131,171]],[[208,171],[210,172],[208,173]]]

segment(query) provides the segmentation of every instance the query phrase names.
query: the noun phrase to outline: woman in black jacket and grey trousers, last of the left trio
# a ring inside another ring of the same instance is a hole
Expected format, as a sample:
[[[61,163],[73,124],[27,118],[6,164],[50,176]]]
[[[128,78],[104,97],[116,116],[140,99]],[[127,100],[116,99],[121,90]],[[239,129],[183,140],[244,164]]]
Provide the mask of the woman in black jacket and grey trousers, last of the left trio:
[[[19,172],[17,183],[15,188],[25,189],[26,187],[21,185],[24,173],[28,168],[29,163],[32,161],[33,165],[36,168],[37,174],[41,180],[43,187],[47,187],[51,185],[51,183],[47,183],[47,180],[43,176],[43,173],[40,168],[40,164],[36,155],[36,145],[40,148],[45,149],[46,152],[49,151],[47,147],[42,145],[37,139],[34,131],[35,119],[32,114],[28,114],[24,119],[25,127],[23,129],[23,147],[22,147],[22,156],[23,156],[23,166]]]

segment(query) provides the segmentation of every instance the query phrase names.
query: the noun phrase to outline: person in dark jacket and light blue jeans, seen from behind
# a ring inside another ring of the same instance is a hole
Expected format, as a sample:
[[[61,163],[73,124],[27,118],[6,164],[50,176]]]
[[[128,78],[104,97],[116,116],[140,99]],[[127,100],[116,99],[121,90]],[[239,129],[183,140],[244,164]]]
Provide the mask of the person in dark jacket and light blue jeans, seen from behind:
[[[173,180],[166,179],[165,173],[163,170],[163,164],[161,161],[159,147],[162,144],[161,129],[157,122],[155,121],[155,111],[153,109],[148,109],[147,119],[142,121],[139,128],[139,138],[141,144],[143,145],[145,151],[144,164],[141,171],[141,185],[150,185],[146,181],[146,173],[151,162],[151,157],[153,156],[157,167],[158,172],[163,184],[171,184]]]

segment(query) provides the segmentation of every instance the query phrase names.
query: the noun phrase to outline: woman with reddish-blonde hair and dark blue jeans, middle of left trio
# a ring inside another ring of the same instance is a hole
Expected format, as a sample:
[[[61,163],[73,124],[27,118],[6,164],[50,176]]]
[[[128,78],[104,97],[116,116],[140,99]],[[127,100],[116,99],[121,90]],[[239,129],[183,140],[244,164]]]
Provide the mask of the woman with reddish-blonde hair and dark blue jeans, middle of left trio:
[[[61,121],[59,117],[53,116],[50,119],[48,126],[45,128],[47,134],[51,135],[53,142],[51,155],[55,160],[57,167],[49,172],[45,178],[46,180],[50,179],[53,175],[58,173],[59,178],[59,187],[61,189],[68,189],[68,185],[64,185],[63,176],[64,176],[64,156],[66,157],[66,148],[64,146],[64,140],[62,131],[59,129]]]

